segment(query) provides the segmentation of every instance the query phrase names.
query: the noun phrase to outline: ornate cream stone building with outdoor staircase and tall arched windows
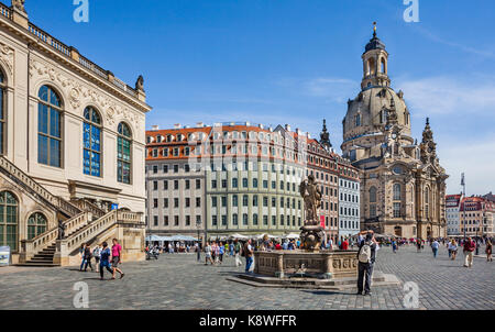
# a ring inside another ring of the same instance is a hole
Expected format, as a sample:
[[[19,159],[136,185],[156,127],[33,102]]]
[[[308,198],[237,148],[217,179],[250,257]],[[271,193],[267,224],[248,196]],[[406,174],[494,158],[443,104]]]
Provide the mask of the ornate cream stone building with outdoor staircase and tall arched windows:
[[[144,128],[135,88],[0,3],[0,245],[12,263],[67,265],[118,237],[142,259]]]

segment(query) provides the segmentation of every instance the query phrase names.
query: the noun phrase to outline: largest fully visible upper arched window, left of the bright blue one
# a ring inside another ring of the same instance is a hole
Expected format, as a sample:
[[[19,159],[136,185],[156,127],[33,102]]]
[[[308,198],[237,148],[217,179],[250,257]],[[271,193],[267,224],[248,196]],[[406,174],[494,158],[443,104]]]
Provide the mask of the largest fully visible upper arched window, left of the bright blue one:
[[[48,86],[37,97],[37,162],[62,167],[62,99]]]

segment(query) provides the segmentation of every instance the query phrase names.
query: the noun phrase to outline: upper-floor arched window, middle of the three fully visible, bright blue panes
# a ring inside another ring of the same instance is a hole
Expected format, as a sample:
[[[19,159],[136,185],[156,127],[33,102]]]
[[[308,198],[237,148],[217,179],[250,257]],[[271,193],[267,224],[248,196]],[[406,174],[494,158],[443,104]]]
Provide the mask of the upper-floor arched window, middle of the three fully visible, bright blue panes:
[[[84,173],[92,176],[101,176],[101,117],[91,107],[85,109],[82,146]]]

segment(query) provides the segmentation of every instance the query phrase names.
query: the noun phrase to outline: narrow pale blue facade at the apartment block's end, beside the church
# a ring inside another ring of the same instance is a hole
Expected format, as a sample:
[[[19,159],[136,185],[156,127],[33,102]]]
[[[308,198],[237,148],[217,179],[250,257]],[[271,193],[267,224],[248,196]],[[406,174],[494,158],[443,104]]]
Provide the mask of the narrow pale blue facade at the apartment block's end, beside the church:
[[[339,169],[339,239],[360,231],[360,175],[344,158],[338,157]]]

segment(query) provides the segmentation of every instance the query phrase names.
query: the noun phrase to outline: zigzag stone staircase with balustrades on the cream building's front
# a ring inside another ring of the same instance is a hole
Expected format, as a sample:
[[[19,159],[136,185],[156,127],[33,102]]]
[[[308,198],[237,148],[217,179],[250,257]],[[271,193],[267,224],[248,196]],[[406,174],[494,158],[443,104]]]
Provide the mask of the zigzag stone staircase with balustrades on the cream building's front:
[[[61,266],[62,262],[68,264],[69,256],[77,255],[82,243],[92,244],[102,235],[109,235],[118,224],[144,228],[142,213],[119,210],[106,212],[87,199],[69,202],[54,196],[3,156],[0,156],[0,171],[40,203],[59,212],[64,220],[63,234],[57,225],[34,239],[21,241],[18,265]]]

